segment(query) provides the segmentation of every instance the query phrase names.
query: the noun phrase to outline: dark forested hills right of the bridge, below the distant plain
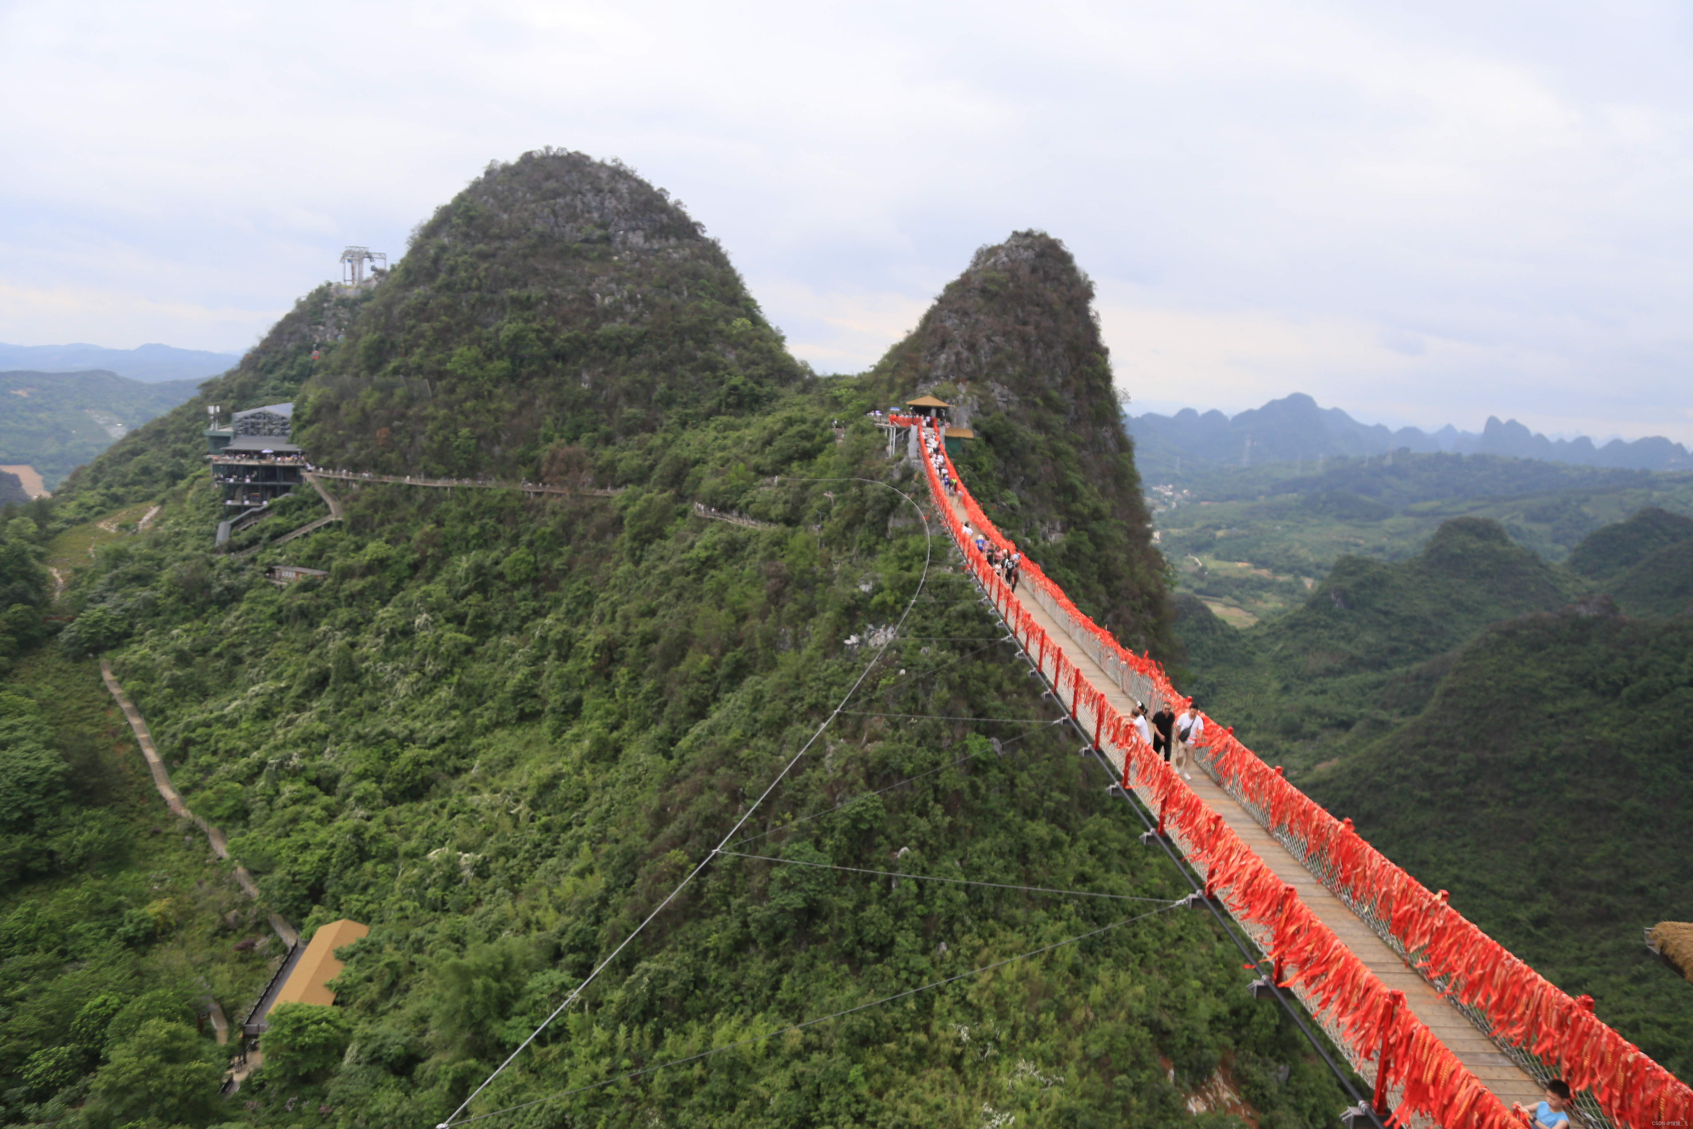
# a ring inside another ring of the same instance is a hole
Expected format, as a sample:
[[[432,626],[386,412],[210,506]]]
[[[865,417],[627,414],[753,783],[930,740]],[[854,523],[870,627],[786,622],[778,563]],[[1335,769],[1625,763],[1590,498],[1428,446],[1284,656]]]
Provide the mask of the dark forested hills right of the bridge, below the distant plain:
[[[1693,912],[1690,528],[1646,508],[1566,569],[1454,520],[1249,631],[1178,625],[1212,716],[1681,1077],[1693,994],[1641,931]]]

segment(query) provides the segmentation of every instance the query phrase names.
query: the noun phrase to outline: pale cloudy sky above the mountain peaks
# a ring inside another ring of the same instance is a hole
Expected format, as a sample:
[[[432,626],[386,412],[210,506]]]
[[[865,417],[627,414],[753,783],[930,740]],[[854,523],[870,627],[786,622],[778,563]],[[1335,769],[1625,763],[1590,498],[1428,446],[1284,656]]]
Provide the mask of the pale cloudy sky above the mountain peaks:
[[[1693,442],[1690,49],[1629,0],[0,0],[0,340],[244,349],[552,144],[821,371],[1036,227],[1143,410]]]

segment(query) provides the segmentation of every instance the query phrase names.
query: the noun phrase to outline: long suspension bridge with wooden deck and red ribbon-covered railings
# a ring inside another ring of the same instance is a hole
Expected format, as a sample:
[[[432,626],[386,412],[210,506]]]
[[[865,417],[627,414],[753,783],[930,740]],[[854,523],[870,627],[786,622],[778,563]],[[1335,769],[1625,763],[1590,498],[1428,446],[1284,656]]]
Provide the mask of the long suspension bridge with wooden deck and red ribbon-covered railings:
[[[935,428],[896,418],[924,440]],[[928,442],[923,443],[928,450]],[[1183,706],[1163,669],[1124,650],[1038,565],[1021,591],[963,537],[968,521],[1011,543],[958,482],[950,499],[923,467],[948,530],[994,608],[1060,704],[1092,733],[1092,750],[1156,812],[1216,897],[1266,953],[1348,1060],[1375,1083],[1375,1107],[1448,1129],[1515,1129],[1510,1102],[1539,1100],[1544,1080],[1578,1092],[1578,1114],[1632,1129],[1693,1124],[1693,1092],[1453,911],[1310,797],[1205,718],[1197,780],[1183,780],[1129,723],[1133,701]],[[1090,750],[1090,752],[1092,752]]]

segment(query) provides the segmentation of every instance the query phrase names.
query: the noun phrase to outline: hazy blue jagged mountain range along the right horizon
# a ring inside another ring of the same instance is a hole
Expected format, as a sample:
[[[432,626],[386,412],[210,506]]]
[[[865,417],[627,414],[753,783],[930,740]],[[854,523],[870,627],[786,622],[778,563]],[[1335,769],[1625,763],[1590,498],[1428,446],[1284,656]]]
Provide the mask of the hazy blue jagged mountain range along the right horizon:
[[[1419,454],[1481,454],[1544,459],[1583,467],[1617,467],[1627,471],[1678,471],[1693,467],[1693,454],[1663,437],[1624,442],[1613,438],[1603,447],[1586,437],[1551,440],[1515,420],[1488,416],[1481,433],[1459,432],[1446,425],[1437,432],[1415,427],[1397,432],[1380,423],[1359,423],[1339,408],[1319,408],[1304,393],[1271,399],[1263,408],[1234,418],[1221,411],[1199,413],[1183,408],[1173,416],[1146,413],[1124,415],[1136,442],[1136,462],[1143,472],[1172,471],[1178,459],[1214,465],[1256,465],[1336,455],[1381,455],[1390,450]]]

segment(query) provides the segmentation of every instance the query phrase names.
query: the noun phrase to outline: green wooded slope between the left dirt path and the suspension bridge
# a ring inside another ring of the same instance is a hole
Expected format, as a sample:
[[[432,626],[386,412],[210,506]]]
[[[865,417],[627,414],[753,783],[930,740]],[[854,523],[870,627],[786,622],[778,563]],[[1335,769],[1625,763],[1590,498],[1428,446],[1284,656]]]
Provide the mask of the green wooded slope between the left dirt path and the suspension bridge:
[[[179,762],[188,802],[232,833],[266,900],[306,929],[340,916],[372,926],[339,980],[349,1049],[332,1071],[332,1039],[284,1049],[264,1088],[242,1090],[259,1102],[247,1119],[288,1124],[298,1099],[345,1124],[438,1121],[828,714],[870,658],[843,640],[896,621],[916,591],[923,523],[894,491],[843,481],[885,472],[867,423],[836,443],[821,405],[782,401],[653,442],[667,484],[779,528],[686,516],[659,484],[564,503],[369,486],[349,491],[344,528],[288,547],[328,581],[278,591],[257,577],[261,553],[190,584],[213,506],[195,482],[159,533],[105,548],[80,582],[83,614],[125,601],[135,630],[120,677]],[[770,471],[830,481],[758,486]],[[1050,728],[989,726],[1007,741],[995,757],[980,726],[901,716],[1051,716],[941,565],[911,642],[855,701],[892,716],[838,718],[760,811],[750,831],[774,834],[755,853],[1180,894]],[[499,1093],[779,1029],[1144,909],[1156,906],[723,858]],[[1161,1124],[1182,1115],[1180,1087],[1227,1063],[1265,1117],[1327,1121],[1332,1083],[1241,992],[1231,953],[1202,917],[1156,914],[560,1109],[787,1126],[977,1124],[987,1105]],[[1278,1063],[1292,1066],[1285,1083]]]

